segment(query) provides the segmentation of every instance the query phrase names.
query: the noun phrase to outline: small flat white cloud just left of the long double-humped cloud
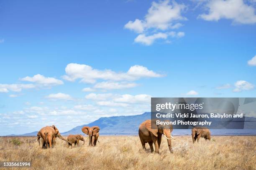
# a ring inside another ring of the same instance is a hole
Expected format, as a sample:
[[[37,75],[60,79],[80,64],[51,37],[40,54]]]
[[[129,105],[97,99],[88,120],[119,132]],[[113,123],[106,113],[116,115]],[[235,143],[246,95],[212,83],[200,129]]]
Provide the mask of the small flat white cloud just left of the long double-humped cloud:
[[[44,86],[55,86],[55,85],[62,85],[64,84],[61,80],[58,80],[53,77],[44,77],[44,75],[34,75],[33,77],[24,77],[21,79],[22,81],[29,81],[29,82],[35,82],[39,85]]]

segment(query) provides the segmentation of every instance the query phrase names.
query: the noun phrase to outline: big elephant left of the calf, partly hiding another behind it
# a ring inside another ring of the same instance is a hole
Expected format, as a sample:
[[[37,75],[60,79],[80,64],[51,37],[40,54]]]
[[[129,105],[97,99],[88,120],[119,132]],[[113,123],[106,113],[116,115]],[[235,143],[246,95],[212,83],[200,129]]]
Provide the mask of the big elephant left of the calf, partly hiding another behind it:
[[[46,126],[44,128],[41,128],[41,130],[38,133],[38,137],[43,139],[42,141],[42,148],[53,148],[56,144],[56,137],[64,140],[67,142],[66,139],[64,139],[61,134],[59,133],[58,128],[56,128],[54,125],[52,126]],[[38,138],[37,137],[37,138]],[[40,140],[39,138],[39,140]],[[38,140],[38,142],[39,142]],[[39,143],[40,145],[40,143]]]

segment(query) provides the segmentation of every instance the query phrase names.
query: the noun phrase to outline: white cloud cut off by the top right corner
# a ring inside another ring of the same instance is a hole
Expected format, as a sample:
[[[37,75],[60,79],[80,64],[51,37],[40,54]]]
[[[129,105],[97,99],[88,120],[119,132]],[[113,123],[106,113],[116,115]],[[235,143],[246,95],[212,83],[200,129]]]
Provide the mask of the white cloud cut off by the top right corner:
[[[218,21],[224,18],[232,20],[233,23],[256,23],[254,7],[245,4],[243,0],[210,0],[206,7],[209,10],[208,14],[198,16],[203,20]]]

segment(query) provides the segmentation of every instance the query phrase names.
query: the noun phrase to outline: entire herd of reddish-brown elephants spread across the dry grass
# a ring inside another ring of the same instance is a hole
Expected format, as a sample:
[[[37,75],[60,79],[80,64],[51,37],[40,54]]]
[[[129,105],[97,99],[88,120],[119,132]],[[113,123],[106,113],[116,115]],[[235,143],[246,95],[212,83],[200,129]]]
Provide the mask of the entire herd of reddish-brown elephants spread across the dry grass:
[[[170,152],[172,153],[172,139],[175,138],[172,136],[172,125],[157,125],[155,120],[146,120],[141,123],[138,130],[138,135],[141,140],[141,145],[144,150],[146,150],[145,144],[148,143],[150,146],[151,153],[154,152],[153,144],[155,147],[155,153],[159,153],[159,148],[161,145],[162,135],[166,138]],[[89,146],[96,146],[97,141],[99,142],[99,131],[98,126],[84,126],[82,132],[89,136]],[[205,127],[195,127],[192,129],[192,141],[195,143],[199,142],[200,138],[205,138],[205,140],[211,139],[210,130]],[[85,140],[82,135],[69,135],[67,139],[61,136],[58,128],[56,126],[46,126],[41,128],[37,133],[37,141],[40,145],[40,139],[42,138],[42,148],[52,148],[56,144],[56,138],[60,138],[67,142],[68,147],[74,145],[79,146],[79,140]]]

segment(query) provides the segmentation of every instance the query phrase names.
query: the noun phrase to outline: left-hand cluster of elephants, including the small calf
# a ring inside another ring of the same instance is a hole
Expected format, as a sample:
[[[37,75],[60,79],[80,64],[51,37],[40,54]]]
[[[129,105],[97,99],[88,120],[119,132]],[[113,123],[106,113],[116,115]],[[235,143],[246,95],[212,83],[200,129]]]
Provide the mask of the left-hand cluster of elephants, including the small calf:
[[[98,126],[84,126],[82,132],[89,136],[89,146],[96,146],[98,137],[99,137],[100,128]],[[42,140],[41,140],[42,138]],[[56,144],[56,138],[60,138],[67,142],[68,147],[74,145],[79,146],[79,140],[82,140],[85,143],[84,137],[82,135],[69,135],[67,139],[61,136],[58,128],[56,126],[46,126],[41,128],[37,133],[37,141],[40,145],[40,140],[42,143],[42,148],[53,148]],[[99,141],[98,141],[99,142]],[[83,143],[83,145],[84,145]]]

